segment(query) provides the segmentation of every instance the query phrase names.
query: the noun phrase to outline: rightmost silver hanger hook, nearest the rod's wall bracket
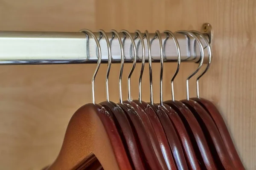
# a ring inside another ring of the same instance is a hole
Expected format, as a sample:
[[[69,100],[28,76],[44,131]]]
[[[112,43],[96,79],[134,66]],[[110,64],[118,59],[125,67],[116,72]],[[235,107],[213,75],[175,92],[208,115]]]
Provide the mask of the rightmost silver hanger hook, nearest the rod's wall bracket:
[[[199,91],[199,79],[208,71],[210,65],[211,65],[211,62],[212,62],[212,48],[209,44],[209,42],[207,41],[207,39],[203,36],[203,34],[201,34],[200,32],[198,31],[190,31],[194,34],[198,34],[206,43],[206,46],[207,46],[207,50],[208,50],[208,53],[209,53],[209,59],[208,59],[208,64],[207,64],[207,67],[205,68],[205,70],[202,72],[202,74],[200,74],[198,76],[198,78],[196,79],[196,95],[197,95],[197,98],[200,98],[200,91]]]

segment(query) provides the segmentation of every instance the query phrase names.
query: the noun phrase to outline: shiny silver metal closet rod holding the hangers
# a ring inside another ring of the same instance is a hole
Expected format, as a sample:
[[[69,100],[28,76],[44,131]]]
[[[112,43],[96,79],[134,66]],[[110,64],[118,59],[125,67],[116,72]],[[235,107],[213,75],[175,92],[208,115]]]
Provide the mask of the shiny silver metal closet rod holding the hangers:
[[[99,38],[99,33],[94,33]],[[120,48],[116,37],[107,33],[111,41],[113,62],[120,62]],[[132,62],[131,40],[119,33],[124,43],[125,62]],[[133,37],[135,33],[131,33]],[[155,33],[150,33],[152,62],[160,61],[159,41]],[[162,33],[165,62],[177,61],[177,51],[171,36]],[[204,34],[209,40],[209,36]],[[193,37],[176,33],[183,62],[198,62],[200,49]],[[206,49],[206,43],[198,36]],[[141,43],[135,39],[137,46],[137,61],[142,58]],[[145,58],[148,61],[148,48],[146,38]],[[102,50],[102,63],[108,62],[107,44],[104,37],[100,40]],[[204,62],[208,60],[208,51],[205,50]],[[0,31],[0,65],[35,65],[35,64],[76,64],[96,63],[97,49],[92,37],[81,32],[28,32],[28,31]]]

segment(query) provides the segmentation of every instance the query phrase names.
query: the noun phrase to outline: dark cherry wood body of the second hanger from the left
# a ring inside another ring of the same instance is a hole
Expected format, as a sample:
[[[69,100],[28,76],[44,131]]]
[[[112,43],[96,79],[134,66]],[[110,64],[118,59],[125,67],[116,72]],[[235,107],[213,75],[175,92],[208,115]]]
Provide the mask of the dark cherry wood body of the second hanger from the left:
[[[101,102],[100,105],[104,106],[112,116],[116,127],[119,130],[119,135],[127,149],[126,152],[128,153],[128,158],[131,159],[133,169],[146,170],[147,168],[145,167],[145,164],[147,163],[145,161],[145,156],[138,145],[139,141],[134,136],[134,132],[125,112],[114,102]]]

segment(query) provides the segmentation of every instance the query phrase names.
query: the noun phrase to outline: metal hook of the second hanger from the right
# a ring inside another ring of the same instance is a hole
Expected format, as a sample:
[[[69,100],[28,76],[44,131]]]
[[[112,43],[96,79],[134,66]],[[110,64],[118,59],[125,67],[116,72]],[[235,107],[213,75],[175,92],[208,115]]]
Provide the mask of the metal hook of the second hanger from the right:
[[[203,65],[203,62],[204,62],[204,47],[202,45],[202,42],[199,40],[198,37],[195,36],[195,34],[189,32],[189,31],[177,31],[177,33],[186,34],[187,36],[189,35],[191,37],[194,37],[195,40],[198,42],[199,48],[201,50],[200,63],[198,65],[198,68],[192,74],[190,74],[189,77],[186,79],[186,98],[187,98],[187,100],[189,100],[189,79],[191,77],[193,77],[200,70],[200,68]]]

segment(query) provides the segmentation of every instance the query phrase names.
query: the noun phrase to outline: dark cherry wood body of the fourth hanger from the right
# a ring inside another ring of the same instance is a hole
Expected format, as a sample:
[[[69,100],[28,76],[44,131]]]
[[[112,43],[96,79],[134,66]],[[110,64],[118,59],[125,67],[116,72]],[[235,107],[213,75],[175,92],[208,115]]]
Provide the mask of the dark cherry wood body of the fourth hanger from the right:
[[[186,162],[188,164],[189,169],[200,170],[202,163],[198,160],[196,156],[200,153],[195,153],[192,142],[189,139],[189,134],[186,131],[186,128],[183,125],[183,122],[178,116],[178,114],[175,112],[175,110],[173,110],[169,105],[166,105],[166,104],[163,104],[162,106],[158,105],[158,108],[166,113],[168,118],[171,120],[173,126],[175,127],[175,130],[179,136],[183,153],[186,157]],[[202,167],[203,169],[205,169],[204,164]]]

